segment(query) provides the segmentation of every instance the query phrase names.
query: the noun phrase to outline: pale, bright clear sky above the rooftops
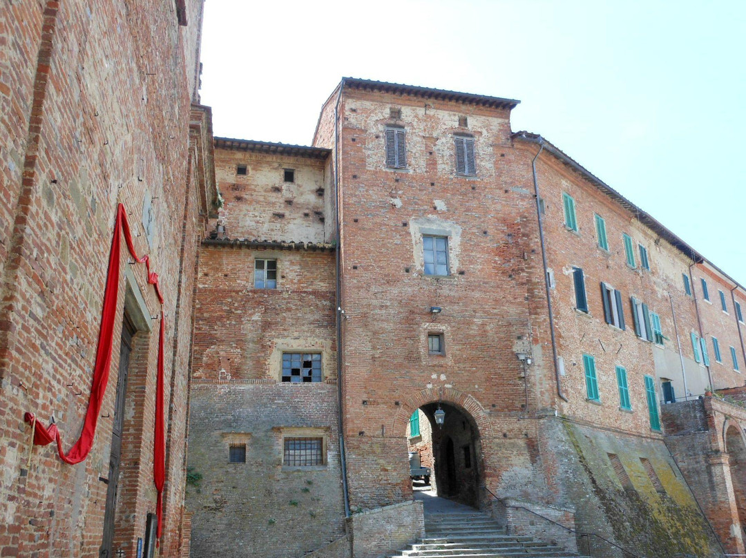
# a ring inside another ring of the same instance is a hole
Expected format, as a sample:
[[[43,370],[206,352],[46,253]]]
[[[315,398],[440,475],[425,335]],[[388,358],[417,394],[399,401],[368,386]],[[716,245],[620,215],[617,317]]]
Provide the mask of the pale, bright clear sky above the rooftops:
[[[216,136],[308,145],[343,76],[516,98],[542,134],[746,285],[746,1],[205,2]]]

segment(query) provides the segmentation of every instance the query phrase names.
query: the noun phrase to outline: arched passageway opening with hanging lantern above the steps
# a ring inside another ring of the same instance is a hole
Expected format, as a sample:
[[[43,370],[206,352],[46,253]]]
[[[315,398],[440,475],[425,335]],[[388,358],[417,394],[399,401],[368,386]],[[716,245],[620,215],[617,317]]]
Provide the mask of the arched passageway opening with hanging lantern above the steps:
[[[438,408],[445,413],[443,424],[436,424]],[[418,424],[419,423],[419,424]],[[417,436],[412,436],[417,433]],[[441,498],[480,507],[482,448],[474,417],[463,407],[433,401],[422,405],[407,424],[410,471],[417,463],[430,468],[430,484],[425,489]],[[413,489],[421,489],[421,479],[413,474]]]

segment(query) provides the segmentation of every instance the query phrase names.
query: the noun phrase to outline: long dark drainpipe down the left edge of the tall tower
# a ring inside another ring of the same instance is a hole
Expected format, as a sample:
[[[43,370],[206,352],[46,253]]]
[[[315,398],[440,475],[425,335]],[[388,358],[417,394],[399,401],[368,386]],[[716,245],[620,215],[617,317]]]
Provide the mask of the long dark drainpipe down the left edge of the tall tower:
[[[345,497],[345,517],[350,517],[350,494],[347,486],[347,458],[345,456],[345,424],[342,420],[342,235],[339,222],[339,102],[342,101],[342,90],[345,78],[339,82],[339,93],[334,105],[334,213],[336,220],[336,395],[339,418],[339,461],[342,466],[342,494]]]

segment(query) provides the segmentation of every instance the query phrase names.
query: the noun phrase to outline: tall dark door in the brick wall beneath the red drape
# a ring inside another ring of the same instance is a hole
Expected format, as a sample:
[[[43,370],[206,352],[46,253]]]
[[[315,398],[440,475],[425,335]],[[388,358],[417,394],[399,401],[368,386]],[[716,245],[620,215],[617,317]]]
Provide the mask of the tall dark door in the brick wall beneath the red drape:
[[[122,457],[122,430],[125,423],[125,397],[127,395],[127,376],[132,354],[132,338],[135,327],[127,313],[122,322],[122,342],[119,345],[119,374],[116,379],[116,402],[111,430],[111,454],[109,457],[109,478],[106,493],[106,510],[104,512],[104,539],[98,552],[99,558],[113,557],[114,517],[116,497],[119,492],[119,462]]]

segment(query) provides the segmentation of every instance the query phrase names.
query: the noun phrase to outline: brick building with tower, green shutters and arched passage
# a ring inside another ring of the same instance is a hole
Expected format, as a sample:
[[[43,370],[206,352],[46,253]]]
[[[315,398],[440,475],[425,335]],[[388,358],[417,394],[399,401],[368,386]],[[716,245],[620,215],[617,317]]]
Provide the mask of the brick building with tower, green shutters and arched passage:
[[[527,508],[639,555],[744,552],[746,290],[514,133],[516,104],[345,78],[313,147],[216,139],[195,556],[403,547],[417,410],[439,495],[516,531],[551,536]]]

